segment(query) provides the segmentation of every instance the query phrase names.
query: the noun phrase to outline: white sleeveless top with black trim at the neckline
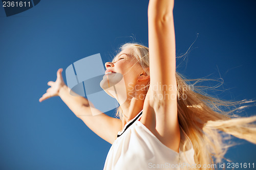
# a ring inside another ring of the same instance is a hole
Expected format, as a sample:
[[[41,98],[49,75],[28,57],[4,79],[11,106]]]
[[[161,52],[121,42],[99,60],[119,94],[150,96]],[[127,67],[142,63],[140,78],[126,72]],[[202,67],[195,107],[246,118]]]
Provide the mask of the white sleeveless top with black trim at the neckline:
[[[190,149],[182,152],[180,144],[178,153],[166,147],[138,121],[141,115],[142,110],[118,132],[103,170],[183,169],[195,164],[193,145],[181,127],[181,138],[188,138]]]

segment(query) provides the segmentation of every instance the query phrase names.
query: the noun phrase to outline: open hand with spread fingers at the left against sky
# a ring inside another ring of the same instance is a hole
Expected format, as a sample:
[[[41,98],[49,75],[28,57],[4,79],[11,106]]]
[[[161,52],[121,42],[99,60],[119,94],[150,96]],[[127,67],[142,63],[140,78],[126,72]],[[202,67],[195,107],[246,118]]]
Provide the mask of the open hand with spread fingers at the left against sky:
[[[65,86],[65,82],[63,81],[62,78],[62,68],[59,68],[57,71],[57,79],[55,82],[53,81],[49,81],[47,83],[48,86],[51,86],[50,88],[48,88],[46,90],[46,93],[44,95],[41,96],[41,98],[39,99],[39,102],[42,102],[44,100],[47,100],[53,96],[58,96],[59,95],[59,90],[61,87]]]

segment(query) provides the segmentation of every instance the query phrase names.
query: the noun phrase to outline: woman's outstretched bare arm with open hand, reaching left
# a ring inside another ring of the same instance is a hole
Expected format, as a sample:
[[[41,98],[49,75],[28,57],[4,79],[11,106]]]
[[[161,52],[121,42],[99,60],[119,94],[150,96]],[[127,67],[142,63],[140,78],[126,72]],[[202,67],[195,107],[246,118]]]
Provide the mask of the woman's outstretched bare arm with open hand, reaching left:
[[[48,85],[51,87],[42,95],[39,102],[53,96],[60,96],[61,100],[84,122],[84,124],[99,137],[112,144],[116,139],[117,132],[122,129],[121,120],[108,116],[94,107],[90,107],[89,101],[86,98],[71,95],[69,92],[70,88],[64,83],[61,72],[62,69],[58,69],[55,82],[48,82]],[[96,115],[92,115],[92,111]]]

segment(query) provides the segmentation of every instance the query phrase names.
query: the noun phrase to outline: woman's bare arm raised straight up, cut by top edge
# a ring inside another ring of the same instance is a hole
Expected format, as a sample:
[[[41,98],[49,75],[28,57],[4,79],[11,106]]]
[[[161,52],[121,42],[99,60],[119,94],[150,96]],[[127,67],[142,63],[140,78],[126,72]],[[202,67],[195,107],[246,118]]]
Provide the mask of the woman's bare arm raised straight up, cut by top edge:
[[[150,0],[148,4],[151,82],[145,100],[147,104],[144,105],[155,120],[155,127],[147,127],[167,147],[178,151],[180,130],[177,115],[173,8],[173,0]]]

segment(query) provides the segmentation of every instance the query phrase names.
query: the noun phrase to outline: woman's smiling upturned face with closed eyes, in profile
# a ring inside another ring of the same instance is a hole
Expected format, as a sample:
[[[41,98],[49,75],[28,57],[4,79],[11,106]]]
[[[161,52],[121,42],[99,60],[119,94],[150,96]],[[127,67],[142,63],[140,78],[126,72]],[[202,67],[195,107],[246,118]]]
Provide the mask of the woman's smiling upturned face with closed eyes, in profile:
[[[131,48],[121,51],[113,62],[106,62],[105,67],[105,75],[100,86],[113,98],[120,98],[121,96],[123,100],[126,100],[129,92],[135,90],[135,86],[140,80],[139,77],[144,72],[137,59],[133,57]]]

